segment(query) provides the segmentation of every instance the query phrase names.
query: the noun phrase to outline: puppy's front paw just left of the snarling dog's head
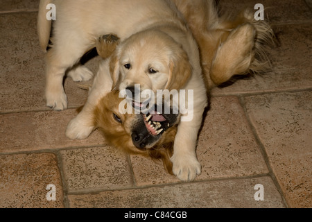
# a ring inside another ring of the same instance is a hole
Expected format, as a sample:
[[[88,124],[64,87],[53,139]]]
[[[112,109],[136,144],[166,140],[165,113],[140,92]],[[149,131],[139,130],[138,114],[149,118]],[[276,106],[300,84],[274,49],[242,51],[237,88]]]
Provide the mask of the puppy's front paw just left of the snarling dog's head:
[[[86,139],[94,130],[93,126],[86,126],[79,116],[72,119],[66,129],[66,136],[69,139]]]

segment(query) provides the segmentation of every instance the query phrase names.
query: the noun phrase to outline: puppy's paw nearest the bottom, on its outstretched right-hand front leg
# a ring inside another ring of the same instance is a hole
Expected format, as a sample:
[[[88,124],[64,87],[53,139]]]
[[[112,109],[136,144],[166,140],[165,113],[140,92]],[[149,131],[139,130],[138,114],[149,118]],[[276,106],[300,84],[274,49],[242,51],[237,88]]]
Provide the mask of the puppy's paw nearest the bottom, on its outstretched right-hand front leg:
[[[201,166],[192,155],[175,155],[171,157],[173,174],[184,182],[193,181],[201,172]]]

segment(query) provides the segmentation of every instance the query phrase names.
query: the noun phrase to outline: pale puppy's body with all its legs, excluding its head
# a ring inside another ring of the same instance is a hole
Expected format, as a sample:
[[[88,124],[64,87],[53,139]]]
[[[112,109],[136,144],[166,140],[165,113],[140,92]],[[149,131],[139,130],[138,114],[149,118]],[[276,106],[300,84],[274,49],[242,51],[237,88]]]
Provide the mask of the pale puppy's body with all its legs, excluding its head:
[[[40,15],[46,12],[44,3],[40,4]],[[182,74],[178,73],[181,71],[179,67],[185,65],[181,62],[187,62],[191,73],[187,76],[189,78],[182,76],[183,85],[179,85],[175,78],[171,81],[175,81],[177,84],[175,87],[179,87],[176,89],[193,90],[193,101],[186,101],[186,103],[193,103],[193,110],[190,111],[192,113],[189,113],[193,119],[179,124],[171,161],[173,173],[180,180],[193,180],[196,174],[200,173],[200,163],[196,158],[196,141],[202,123],[202,113],[207,106],[207,91],[202,79],[198,46],[175,5],[166,0],[55,0],[52,3],[57,9],[57,19],[51,39],[53,44],[46,55],[46,101],[47,105],[55,110],[67,108],[67,96],[62,86],[65,71],[75,65],[86,51],[92,49],[98,37],[103,33],[118,35],[122,43],[134,34],[157,31],[165,33],[171,42],[180,46],[181,49],[178,52],[171,51],[170,47],[166,49],[172,53],[172,55],[169,53],[169,56],[176,56],[176,60],[171,62],[171,75],[184,75],[184,71]],[[46,27],[49,26],[49,22],[44,19],[38,22],[39,31],[47,30]],[[136,37],[136,42],[144,40],[139,34]],[[158,35],[155,37],[157,38]],[[43,49],[48,41],[48,33],[40,33]],[[148,42],[148,44],[153,44],[153,42]],[[186,55],[181,61],[178,60],[180,52]],[[170,58],[164,59],[169,62]],[[69,123],[68,137],[84,139],[94,130],[92,117],[90,117],[91,110],[111,88],[105,87],[111,83],[111,80],[105,77],[105,74],[109,73],[107,68],[107,64],[100,67],[105,70],[102,70],[101,76],[96,76],[83,111]],[[69,76],[73,80],[85,80],[91,75],[84,67],[76,67],[69,73]]]

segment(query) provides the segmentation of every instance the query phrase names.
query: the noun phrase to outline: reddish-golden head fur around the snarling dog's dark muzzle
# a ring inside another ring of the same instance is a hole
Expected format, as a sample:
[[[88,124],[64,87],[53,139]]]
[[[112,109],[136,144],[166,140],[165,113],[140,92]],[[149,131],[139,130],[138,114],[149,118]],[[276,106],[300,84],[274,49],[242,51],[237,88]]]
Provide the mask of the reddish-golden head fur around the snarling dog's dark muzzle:
[[[172,172],[173,142],[177,132],[177,126],[168,128],[152,148],[138,149],[131,139],[131,128],[137,120],[138,114],[121,114],[119,103],[123,99],[119,98],[119,92],[114,90],[101,99],[94,110],[94,126],[101,131],[105,137],[105,142],[119,148],[129,154],[139,154],[152,157],[153,160],[162,160],[164,168],[168,173]],[[114,119],[113,114],[121,118],[121,123]]]

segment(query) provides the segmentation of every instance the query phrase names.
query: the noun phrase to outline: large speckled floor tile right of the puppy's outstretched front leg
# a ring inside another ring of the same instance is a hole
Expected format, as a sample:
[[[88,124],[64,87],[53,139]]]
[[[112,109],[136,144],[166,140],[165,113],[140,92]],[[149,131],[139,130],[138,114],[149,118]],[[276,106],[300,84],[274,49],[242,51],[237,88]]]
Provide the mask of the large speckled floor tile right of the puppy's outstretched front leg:
[[[214,97],[198,139],[198,180],[268,173],[236,97]]]

